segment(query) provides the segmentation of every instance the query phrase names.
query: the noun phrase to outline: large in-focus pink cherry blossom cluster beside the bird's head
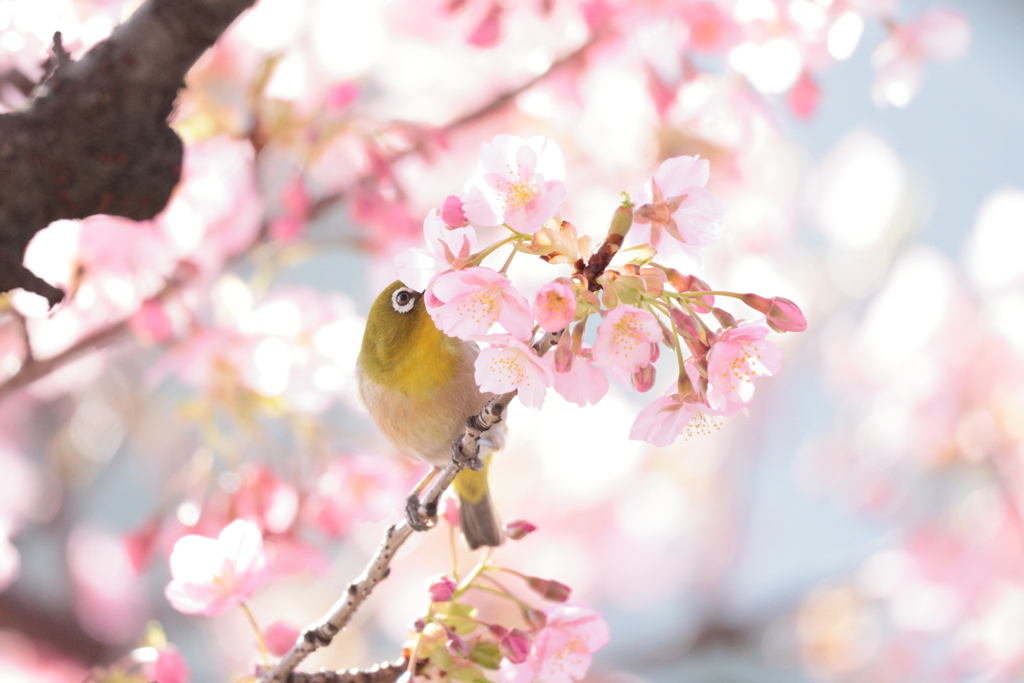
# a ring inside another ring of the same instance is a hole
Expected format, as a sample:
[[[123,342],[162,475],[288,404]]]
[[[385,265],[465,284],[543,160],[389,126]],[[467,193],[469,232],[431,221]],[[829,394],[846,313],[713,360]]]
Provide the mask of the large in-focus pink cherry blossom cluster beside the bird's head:
[[[668,445],[751,404],[755,381],[781,365],[781,351],[765,339],[769,328],[806,328],[787,299],[713,291],[673,267],[698,265],[701,249],[721,233],[724,210],[706,188],[710,172],[697,157],[666,160],[635,199],[627,196],[615,209],[597,245],[558,215],[566,191],[557,145],[498,135],[481,145],[479,173],[463,195],[424,220],[430,251],[395,259],[399,276],[414,287],[426,282],[427,310],[445,334],[486,344],[475,366],[482,391],[515,390],[531,408],[543,405],[549,388],[581,407],[596,403],[609,375],[648,391],[664,346],[678,361],[677,381],[641,411],[630,437]],[[477,227],[504,228],[505,237],[476,251]],[[503,249],[509,253],[500,269],[482,265]],[[532,302],[507,276],[517,254],[563,270]],[[764,317],[736,321],[715,305],[717,296]],[[596,338],[587,344],[591,322]],[[546,356],[531,345],[540,331],[558,335]]]

